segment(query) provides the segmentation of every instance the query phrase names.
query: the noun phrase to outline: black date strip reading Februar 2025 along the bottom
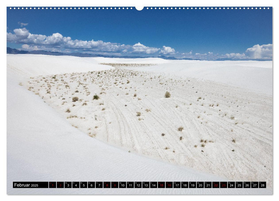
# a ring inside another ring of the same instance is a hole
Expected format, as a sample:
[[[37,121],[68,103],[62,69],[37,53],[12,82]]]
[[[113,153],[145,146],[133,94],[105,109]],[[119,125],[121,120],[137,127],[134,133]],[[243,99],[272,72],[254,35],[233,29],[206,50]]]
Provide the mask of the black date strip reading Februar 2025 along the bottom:
[[[14,181],[13,188],[266,188],[266,181]]]

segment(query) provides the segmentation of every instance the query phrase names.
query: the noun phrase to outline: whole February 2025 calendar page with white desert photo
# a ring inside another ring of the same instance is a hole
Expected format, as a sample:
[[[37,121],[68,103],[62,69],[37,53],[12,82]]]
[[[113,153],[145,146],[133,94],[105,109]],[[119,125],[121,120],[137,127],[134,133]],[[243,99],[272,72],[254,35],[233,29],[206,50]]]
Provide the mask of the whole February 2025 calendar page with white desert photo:
[[[272,7],[6,9],[7,194],[273,193]]]

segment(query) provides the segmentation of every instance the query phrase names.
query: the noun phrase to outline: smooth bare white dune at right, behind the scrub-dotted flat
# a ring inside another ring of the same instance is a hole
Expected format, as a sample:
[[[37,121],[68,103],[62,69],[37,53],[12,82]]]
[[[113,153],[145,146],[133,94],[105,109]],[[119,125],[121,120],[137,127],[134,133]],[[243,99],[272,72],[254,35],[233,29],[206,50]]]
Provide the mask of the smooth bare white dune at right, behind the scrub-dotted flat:
[[[137,70],[136,67],[127,69]],[[141,71],[212,80],[272,95],[272,61],[172,61]]]

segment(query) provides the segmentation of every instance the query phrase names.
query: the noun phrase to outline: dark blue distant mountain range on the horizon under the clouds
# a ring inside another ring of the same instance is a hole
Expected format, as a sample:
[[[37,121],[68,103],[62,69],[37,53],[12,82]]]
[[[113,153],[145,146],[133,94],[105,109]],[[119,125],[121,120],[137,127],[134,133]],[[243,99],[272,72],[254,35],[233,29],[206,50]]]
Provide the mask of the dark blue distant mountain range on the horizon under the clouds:
[[[126,59],[135,59],[135,58],[150,58],[150,57],[140,57],[140,56],[116,56],[116,55],[100,55],[100,54],[87,54],[87,53],[61,53],[61,52],[51,52],[51,51],[44,51],[44,50],[33,50],[33,51],[24,51],[18,49],[12,49],[7,47],[7,54],[36,54],[36,55],[55,55],[55,56],[74,56],[74,57],[106,57],[106,58],[126,58]],[[168,59],[168,60],[199,60],[199,59],[178,59],[176,57],[166,57],[166,56],[158,56],[158,57],[151,57],[151,58],[161,58],[161,59]]]

